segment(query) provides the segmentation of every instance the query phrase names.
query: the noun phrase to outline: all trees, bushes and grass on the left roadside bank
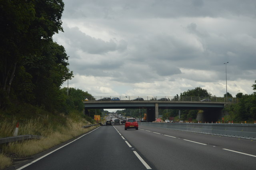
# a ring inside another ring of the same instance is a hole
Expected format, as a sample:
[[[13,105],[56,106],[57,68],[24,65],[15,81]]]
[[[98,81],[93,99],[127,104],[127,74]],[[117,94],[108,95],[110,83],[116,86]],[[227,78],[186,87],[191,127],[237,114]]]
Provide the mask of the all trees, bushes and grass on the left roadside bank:
[[[3,0],[0,2],[0,138],[18,135],[42,136],[0,144],[0,169],[14,158],[27,157],[75,138],[95,127],[94,115],[83,113],[87,91],[61,88],[72,79],[68,56],[52,36],[62,28],[62,0]]]

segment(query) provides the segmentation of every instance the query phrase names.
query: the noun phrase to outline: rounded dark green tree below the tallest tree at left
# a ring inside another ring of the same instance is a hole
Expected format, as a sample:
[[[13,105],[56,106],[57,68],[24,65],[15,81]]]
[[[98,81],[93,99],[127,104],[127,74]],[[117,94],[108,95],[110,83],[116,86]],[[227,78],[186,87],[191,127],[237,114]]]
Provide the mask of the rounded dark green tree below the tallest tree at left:
[[[54,110],[60,102],[60,86],[73,76],[67,60],[64,47],[54,42],[45,45],[41,54],[24,56],[17,65],[18,74],[13,83],[15,95],[24,102]],[[27,94],[23,94],[24,91]]]

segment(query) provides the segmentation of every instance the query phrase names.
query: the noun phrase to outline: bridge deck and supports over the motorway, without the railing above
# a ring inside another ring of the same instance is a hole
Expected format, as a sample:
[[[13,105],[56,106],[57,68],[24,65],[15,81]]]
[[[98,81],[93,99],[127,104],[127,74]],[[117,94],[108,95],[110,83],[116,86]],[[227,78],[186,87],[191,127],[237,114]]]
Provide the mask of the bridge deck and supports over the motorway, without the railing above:
[[[200,121],[215,122],[222,116],[224,102],[198,101],[84,101],[85,114],[88,109],[146,109],[147,122],[155,121],[159,109],[203,110]]]

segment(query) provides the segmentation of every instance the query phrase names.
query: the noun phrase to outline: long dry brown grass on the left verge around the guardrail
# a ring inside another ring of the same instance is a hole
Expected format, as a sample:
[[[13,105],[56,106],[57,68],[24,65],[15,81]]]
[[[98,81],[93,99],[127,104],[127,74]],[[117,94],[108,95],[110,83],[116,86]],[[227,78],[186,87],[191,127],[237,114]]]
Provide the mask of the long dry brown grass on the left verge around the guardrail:
[[[62,115],[62,117],[65,116]],[[36,134],[43,136],[43,138],[39,140],[12,142],[8,145],[2,146],[3,154],[0,154],[0,170],[11,165],[12,159],[8,157],[10,155],[16,158],[32,156],[100,126],[97,125],[94,127],[82,128],[82,126],[90,124],[82,118],[74,120],[69,117],[65,117],[65,125],[51,123],[49,119],[50,118],[48,116],[45,116],[36,119],[29,119],[20,124],[19,135]],[[16,122],[16,120],[9,123],[8,121],[1,122],[0,130],[7,132],[4,134],[1,133],[0,136],[12,136]]]

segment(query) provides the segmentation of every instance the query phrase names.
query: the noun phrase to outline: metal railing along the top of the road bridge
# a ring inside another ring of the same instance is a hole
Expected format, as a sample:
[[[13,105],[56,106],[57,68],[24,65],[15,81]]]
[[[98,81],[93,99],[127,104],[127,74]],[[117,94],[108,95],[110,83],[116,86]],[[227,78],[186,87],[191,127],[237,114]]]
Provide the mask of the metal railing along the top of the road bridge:
[[[231,102],[232,97],[188,97],[188,96],[84,96],[82,101],[202,101],[202,102]]]

